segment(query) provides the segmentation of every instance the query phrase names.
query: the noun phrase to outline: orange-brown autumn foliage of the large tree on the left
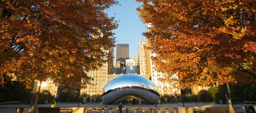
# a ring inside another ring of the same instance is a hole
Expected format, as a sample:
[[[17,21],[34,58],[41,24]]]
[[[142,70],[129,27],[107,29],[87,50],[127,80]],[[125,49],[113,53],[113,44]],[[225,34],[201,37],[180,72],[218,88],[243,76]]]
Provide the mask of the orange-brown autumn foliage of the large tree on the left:
[[[114,17],[105,9],[114,0],[4,0],[0,2],[0,79],[25,83],[50,78],[57,85],[90,83],[86,72],[112,56]],[[106,59],[102,56],[105,55]],[[82,81],[81,81],[82,79]]]

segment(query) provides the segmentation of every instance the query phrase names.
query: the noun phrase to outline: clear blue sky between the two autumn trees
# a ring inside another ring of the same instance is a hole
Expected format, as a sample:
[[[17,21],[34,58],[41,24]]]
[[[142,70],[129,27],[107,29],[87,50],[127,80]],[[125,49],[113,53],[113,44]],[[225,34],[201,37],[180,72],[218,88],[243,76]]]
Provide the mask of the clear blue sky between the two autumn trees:
[[[116,44],[126,43],[129,44],[129,57],[131,59],[133,56],[138,57],[138,48],[139,40],[146,42],[146,38],[142,36],[142,33],[147,31],[145,26],[137,16],[136,7],[141,6],[141,3],[136,2],[135,0],[121,0],[118,1],[121,6],[113,6],[108,10],[105,10],[108,13],[109,17],[115,17],[115,20],[118,20],[118,29],[113,30],[116,34]],[[115,15],[114,15],[115,14]],[[116,47],[114,48],[114,65],[116,65]]]

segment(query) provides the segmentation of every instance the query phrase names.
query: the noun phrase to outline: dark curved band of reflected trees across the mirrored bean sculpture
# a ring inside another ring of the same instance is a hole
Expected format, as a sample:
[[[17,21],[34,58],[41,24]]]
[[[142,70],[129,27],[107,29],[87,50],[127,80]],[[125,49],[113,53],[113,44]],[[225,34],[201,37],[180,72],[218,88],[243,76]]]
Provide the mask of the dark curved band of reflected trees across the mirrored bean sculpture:
[[[104,96],[105,94],[108,94],[108,93],[110,93],[110,92],[112,92],[112,91],[116,91],[116,90],[122,90],[122,89],[127,89],[127,88],[138,88],[138,89],[142,89],[142,90],[146,90],[146,91],[149,91],[149,92],[152,92],[152,93],[154,93],[154,94],[156,94],[156,95],[158,95],[159,97],[160,97],[160,94],[158,93],[158,91],[157,90],[153,90],[153,89],[147,89],[147,88],[144,88],[144,87],[141,87],[141,86],[124,86],[124,87],[119,87],[119,88],[115,88],[115,89],[110,89],[110,90],[108,90],[108,91],[103,91],[103,94],[102,94],[102,96]]]

